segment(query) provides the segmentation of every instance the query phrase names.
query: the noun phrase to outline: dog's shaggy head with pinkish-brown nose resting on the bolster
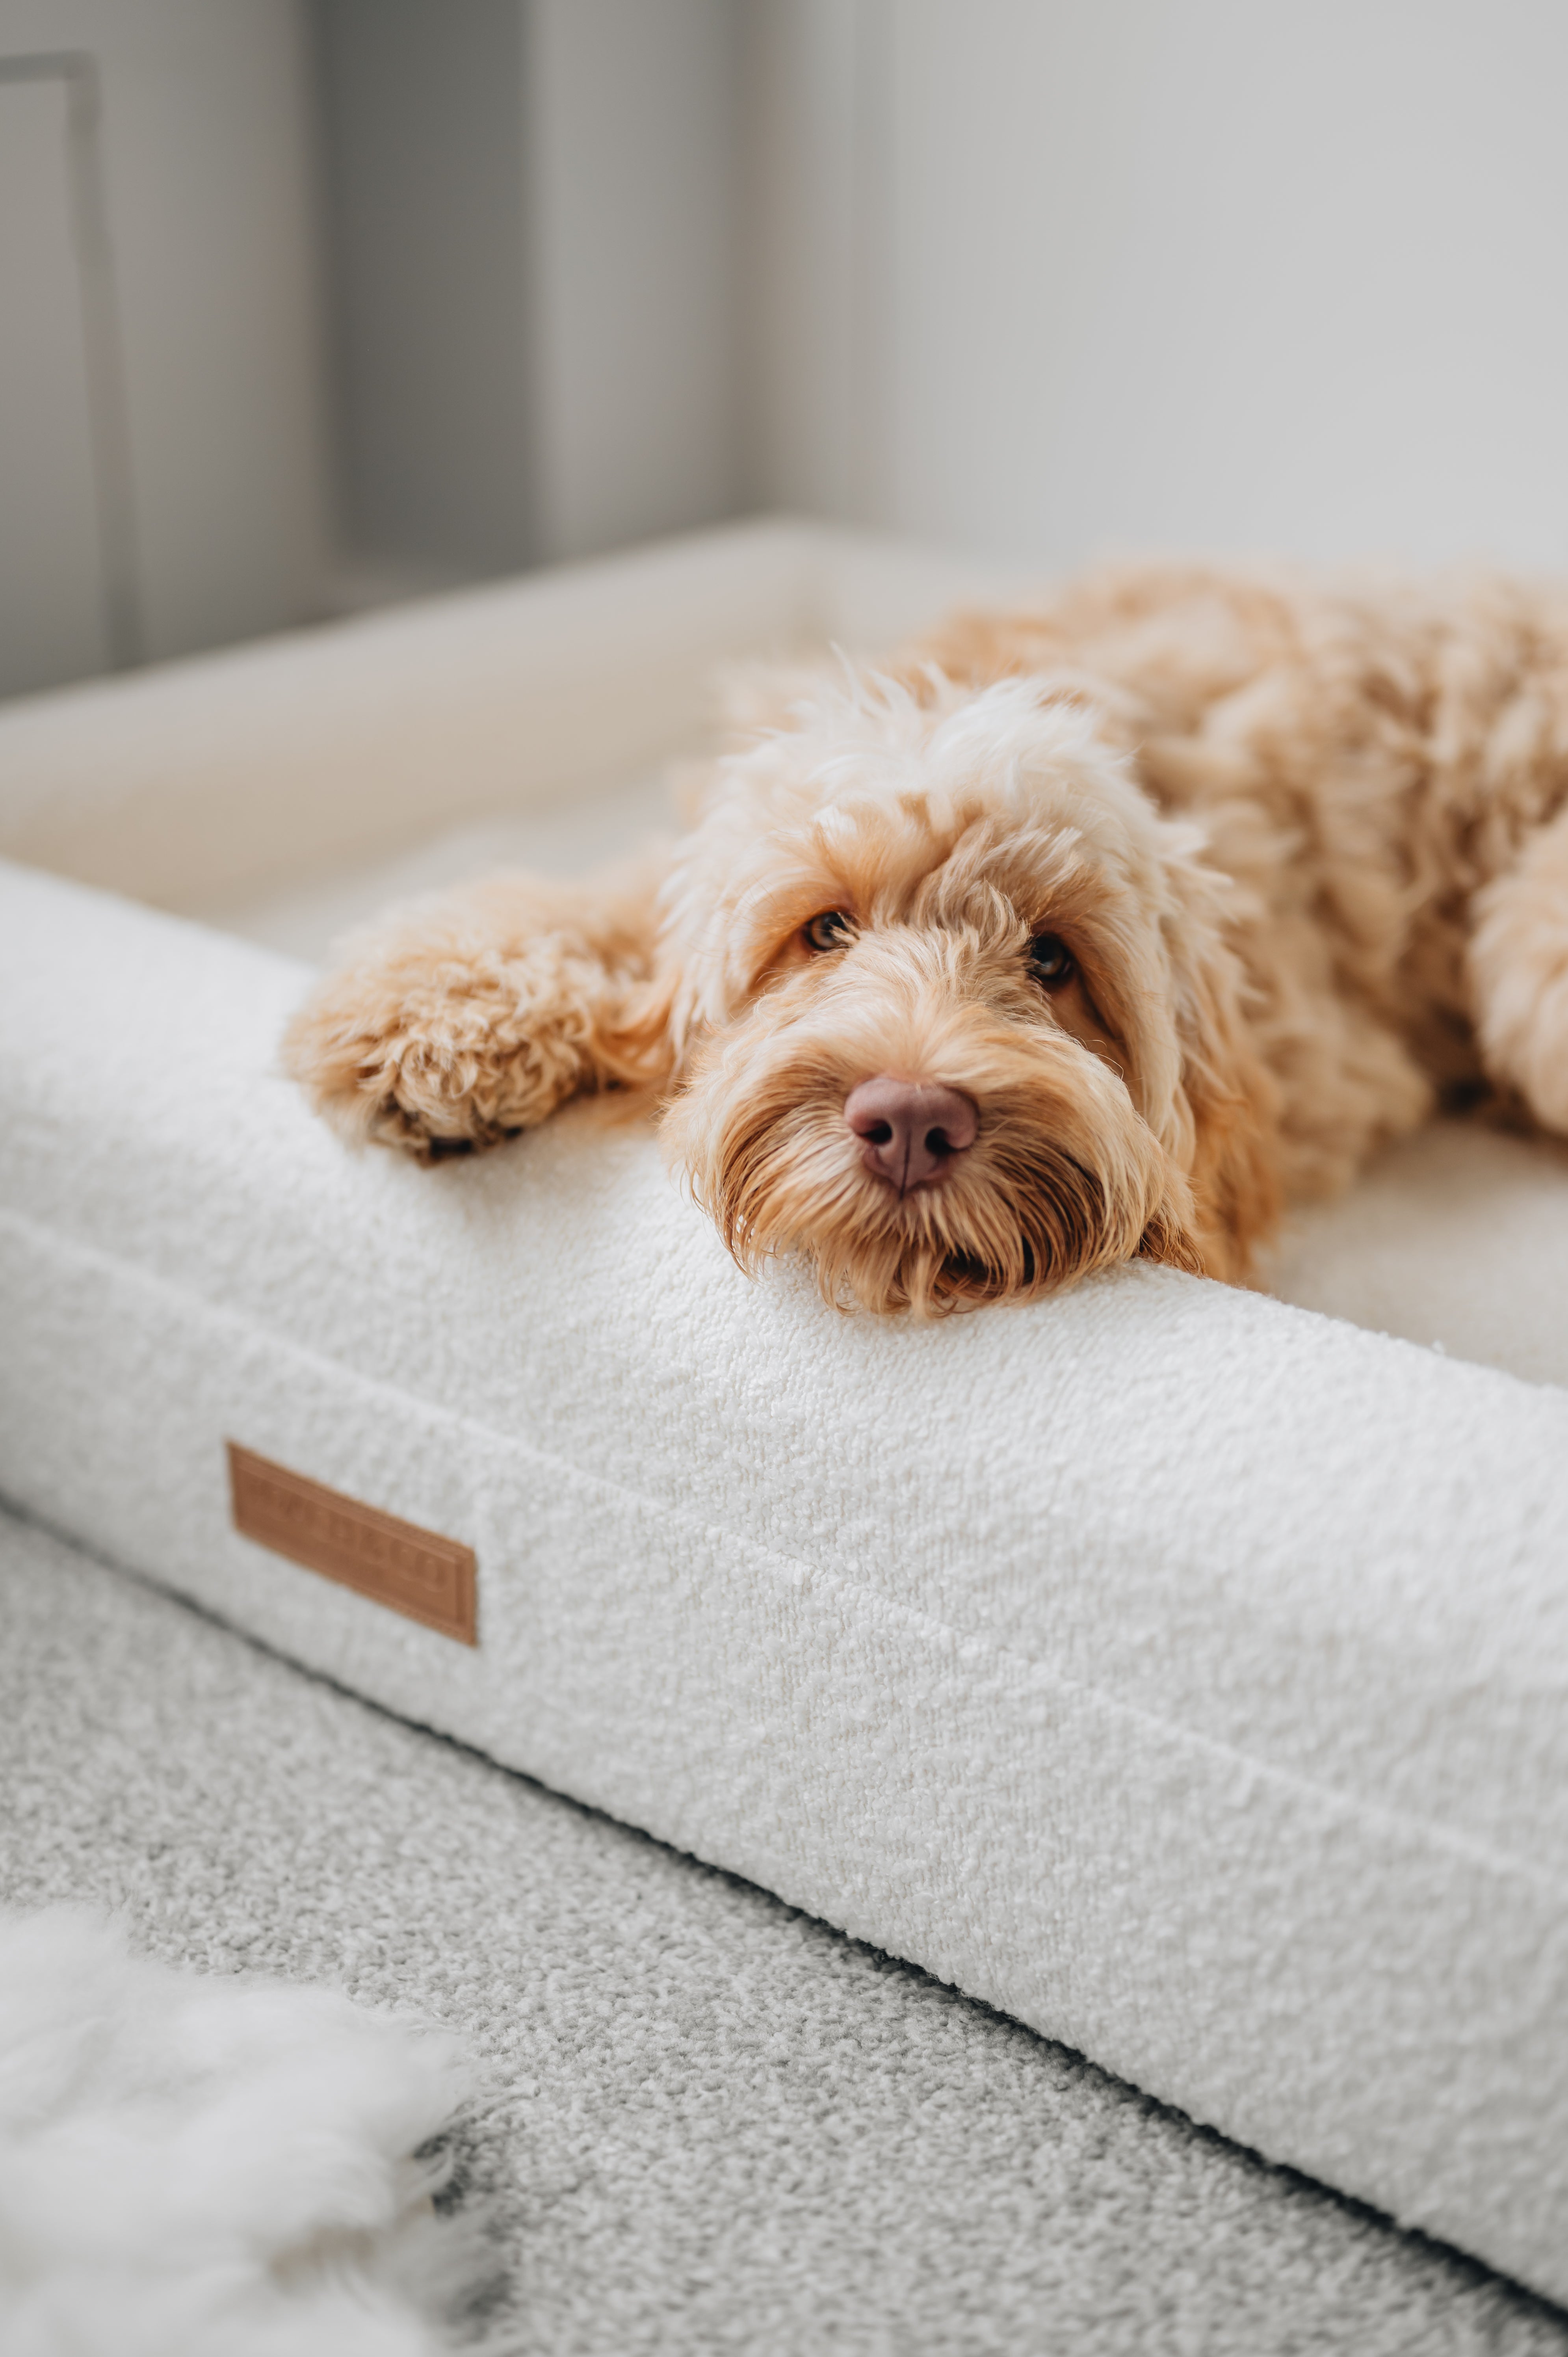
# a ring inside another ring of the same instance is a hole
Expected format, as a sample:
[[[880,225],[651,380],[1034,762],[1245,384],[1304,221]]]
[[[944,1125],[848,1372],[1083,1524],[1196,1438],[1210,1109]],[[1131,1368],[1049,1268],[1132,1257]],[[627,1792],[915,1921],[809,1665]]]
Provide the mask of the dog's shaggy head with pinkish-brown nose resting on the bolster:
[[[674,870],[667,1136],[743,1266],[943,1310],[1273,1214],[1224,882],[1073,693],[849,676],[714,773]]]

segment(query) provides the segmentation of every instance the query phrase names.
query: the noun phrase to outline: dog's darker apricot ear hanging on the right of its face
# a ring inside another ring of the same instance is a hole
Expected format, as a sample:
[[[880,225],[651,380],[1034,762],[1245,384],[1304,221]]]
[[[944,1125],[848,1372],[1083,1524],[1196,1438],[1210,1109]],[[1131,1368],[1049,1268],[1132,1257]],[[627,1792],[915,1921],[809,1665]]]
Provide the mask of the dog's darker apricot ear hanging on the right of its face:
[[[1172,966],[1172,1016],[1179,1082],[1167,1150],[1186,1171],[1191,1216],[1151,1259],[1240,1285],[1257,1247],[1280,1219],[1280,1101],[1247,1021],[1247,978],[1226,940],[1226,884],[1188,849],[1167,867],[1174,910],[1165,943]],[[1151,1230],[1153,1233],[1153,1230]]]

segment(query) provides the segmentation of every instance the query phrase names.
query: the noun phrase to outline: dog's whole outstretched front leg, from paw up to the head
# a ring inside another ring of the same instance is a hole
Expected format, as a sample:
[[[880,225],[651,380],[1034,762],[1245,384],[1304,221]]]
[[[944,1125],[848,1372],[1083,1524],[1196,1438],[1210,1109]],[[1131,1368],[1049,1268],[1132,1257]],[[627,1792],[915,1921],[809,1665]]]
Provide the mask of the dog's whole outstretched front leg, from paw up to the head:
[[[394,912],[344,943],[283,1065],[344,1136],[420,1160],[533,1129],[568,1096],[655,1084],[658,882],[495,877]]]

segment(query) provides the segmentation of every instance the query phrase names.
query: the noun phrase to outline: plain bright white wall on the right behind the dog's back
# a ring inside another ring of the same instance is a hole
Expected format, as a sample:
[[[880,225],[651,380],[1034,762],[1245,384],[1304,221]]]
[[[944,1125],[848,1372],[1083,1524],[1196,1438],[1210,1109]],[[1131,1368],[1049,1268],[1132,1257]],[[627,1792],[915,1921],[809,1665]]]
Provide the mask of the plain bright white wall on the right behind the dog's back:
[[[1568,566],[1561,0],[757,0],[752,488]]]

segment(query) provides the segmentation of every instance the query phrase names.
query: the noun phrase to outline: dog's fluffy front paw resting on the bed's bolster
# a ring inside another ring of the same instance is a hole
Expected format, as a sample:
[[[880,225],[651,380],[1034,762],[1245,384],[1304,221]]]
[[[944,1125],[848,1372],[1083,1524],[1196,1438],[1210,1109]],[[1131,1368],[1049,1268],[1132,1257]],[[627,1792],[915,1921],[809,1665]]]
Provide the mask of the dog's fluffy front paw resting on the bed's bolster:
[[[604,966],[571,940],[495,945],[427,924],[328,976],[290,1023],[283,1065],[344,1136],[429,1162],[495,1146],[594,1087],[604,995]]]

